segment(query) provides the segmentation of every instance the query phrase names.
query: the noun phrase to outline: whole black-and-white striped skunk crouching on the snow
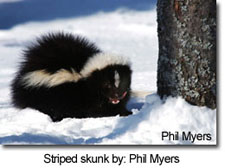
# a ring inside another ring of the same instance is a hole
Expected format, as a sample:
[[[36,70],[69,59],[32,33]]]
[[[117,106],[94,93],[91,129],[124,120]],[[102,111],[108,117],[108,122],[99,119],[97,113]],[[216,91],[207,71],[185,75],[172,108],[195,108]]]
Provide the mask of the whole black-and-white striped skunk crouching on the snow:
[[[24,51],[11,84],[12,103],[63,118],[127,116],[130,63],[107,54],[85,38],[52,33]]]

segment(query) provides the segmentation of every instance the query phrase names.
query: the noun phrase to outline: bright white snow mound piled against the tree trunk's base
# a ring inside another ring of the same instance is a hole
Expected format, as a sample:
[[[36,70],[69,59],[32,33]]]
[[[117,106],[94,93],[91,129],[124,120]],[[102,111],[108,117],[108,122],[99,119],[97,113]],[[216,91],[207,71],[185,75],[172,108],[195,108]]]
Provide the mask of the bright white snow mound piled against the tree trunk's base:
[[[127,128],[129,127],[129,128]],[[117,125],[123,134],[104,138],[103,144],[216,144],[216,110],[188,104],[182,98],[169,97],[165,102],[152,94],[135,115],[120,120]],[[210,141],[162,141],[162,131],[210,134]],[[114,131],[119,132],[119,131]]]

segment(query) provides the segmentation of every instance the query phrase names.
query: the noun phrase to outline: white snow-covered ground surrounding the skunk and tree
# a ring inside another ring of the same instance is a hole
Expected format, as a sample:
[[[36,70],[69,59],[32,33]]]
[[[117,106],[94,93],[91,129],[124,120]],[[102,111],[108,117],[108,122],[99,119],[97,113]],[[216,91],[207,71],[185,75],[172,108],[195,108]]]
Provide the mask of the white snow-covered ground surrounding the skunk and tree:
[[[10,81],[22,50],[37,36],[65,31],[87,37],[102,50],[129,57],[132,89],[153,94],[132,98],[134,115],[121,118],[71,119],[53,123],[32,109],[18,110],[10,104]],[[181,98],[162,102],[156,92],[158,56],[155,9],[116,9],[92,15],[26,22],[0,30],[0,143],[2,144],[192,144],[162,141],[162,131],[210,134],[216,144],[216,110],[191,106]]]

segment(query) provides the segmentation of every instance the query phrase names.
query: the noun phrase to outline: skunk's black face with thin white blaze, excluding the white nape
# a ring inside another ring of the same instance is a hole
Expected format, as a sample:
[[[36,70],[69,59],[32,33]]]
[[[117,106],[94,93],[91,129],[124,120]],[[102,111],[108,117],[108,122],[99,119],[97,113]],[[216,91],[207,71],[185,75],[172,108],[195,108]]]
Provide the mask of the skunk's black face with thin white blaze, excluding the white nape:
[[[98,79],[100,92],[111,104],[118,104],[129,95],[131,70],[128,66],[112,66],[102,70]]]

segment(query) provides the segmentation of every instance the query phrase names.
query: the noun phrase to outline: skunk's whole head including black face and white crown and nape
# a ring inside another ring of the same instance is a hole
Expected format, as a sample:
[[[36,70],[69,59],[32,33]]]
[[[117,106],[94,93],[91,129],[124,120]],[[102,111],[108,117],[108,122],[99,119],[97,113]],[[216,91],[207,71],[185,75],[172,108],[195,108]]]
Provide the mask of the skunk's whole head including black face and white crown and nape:
[[[90,91],[100,99],[118,104],[129,97],[132,71],[125,57],[100,52],[87,61],[80,73],[90,80]]]

